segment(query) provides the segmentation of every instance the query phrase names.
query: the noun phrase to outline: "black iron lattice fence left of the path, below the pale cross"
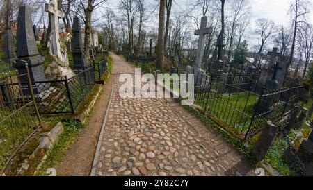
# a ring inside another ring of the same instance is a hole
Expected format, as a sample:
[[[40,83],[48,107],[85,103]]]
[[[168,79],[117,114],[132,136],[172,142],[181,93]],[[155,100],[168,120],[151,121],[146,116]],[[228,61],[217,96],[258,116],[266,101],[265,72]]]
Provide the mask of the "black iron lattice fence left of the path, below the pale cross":
[[[106,69],[106,61],[99,61],[71,78],[32,82],[40,114],[74,114]],[[0,84],[1,94],[6,93],[4,87]],[[11,83],[10,89],[13,94],[22,91],[24,97],[29,97],[27,83]]]

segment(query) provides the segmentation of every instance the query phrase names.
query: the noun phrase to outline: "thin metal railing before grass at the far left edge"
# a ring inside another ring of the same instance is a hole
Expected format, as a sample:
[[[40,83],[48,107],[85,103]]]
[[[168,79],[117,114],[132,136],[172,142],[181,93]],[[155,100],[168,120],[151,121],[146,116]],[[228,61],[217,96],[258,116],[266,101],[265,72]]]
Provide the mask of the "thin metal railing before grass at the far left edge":
[[[29,81],[26,87],[30,93],[27,96],[24,96],[20,77],[26,77]],[[11,85],[12,83],[16,83],[19,90],[15,90],[16,85]],[[15,150],[40,127],[40,114],[33,89],[29,84],[29,74],[6,75],[0,82],[0,170],[13,156]]]

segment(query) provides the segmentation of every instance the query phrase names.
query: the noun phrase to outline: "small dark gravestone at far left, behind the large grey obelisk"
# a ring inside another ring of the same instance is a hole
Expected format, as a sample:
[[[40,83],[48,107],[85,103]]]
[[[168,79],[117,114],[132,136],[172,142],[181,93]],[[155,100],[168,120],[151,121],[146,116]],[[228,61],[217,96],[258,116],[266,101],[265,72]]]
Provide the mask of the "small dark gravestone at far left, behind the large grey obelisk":
[[[4,34],[4,53],[6,60],[12,64],[16,60],[14,37],[11,30],[7,30]]]

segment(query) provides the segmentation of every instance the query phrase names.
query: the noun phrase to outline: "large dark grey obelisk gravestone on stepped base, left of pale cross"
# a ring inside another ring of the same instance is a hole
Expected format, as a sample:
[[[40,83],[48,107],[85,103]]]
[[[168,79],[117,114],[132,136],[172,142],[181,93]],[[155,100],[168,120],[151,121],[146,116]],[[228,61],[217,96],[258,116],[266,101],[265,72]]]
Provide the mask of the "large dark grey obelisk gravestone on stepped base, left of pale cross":
[[[21,6],[17,17],[17,60],[14,65],[19,74],[26,74],[25,62],[29,66],[31,81],[45,81],[45,72],[42,64],[45,58],[39,55],[33,33],[31,8]],[[21,83],[27,83],[27,77],[20,78]],[[39,94],[42,89],[34,87],[34,93]]]

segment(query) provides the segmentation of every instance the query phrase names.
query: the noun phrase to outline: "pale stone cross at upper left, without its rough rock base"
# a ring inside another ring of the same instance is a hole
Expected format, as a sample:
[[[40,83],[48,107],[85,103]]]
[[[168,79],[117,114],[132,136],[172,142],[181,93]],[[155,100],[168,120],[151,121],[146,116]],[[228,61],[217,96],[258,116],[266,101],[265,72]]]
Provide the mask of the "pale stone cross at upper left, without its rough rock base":
[[[50,46],[51,53],[56,55],[59,60],[62,62],[68,62],[67,55],[64,55],[61,52],[61,46],[59,41],[59,28],[58,28],[58,19],[63,18],[63,13],[59,7],[60,2],[57,0],[49,0],[49,3],[45,3],[45,12],[48,12],[50,15],[50,24],[51,24],[51,35],[50,35]]]

